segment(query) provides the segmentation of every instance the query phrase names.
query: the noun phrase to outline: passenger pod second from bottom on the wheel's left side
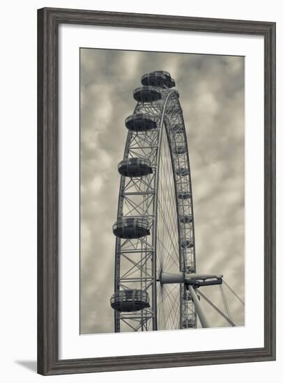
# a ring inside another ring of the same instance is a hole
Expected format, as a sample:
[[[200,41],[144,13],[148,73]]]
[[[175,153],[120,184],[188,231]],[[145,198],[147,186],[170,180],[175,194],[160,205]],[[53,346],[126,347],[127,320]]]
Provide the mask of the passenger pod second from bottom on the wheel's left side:
[[[113,233],[116,237],[125,240],[138,239],[151,234],[148,220],[142,217],[119,218],[113,225]]]

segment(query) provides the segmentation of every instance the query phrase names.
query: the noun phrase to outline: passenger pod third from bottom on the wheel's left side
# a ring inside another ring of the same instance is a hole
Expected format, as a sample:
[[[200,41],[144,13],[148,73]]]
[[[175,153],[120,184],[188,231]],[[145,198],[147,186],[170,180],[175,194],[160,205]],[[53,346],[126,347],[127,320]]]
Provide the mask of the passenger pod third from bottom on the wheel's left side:
[[[151,161],[146,158],[128,158],[123,159],[118,164],[118,172],[125,177],[144,177],[153,173]]]

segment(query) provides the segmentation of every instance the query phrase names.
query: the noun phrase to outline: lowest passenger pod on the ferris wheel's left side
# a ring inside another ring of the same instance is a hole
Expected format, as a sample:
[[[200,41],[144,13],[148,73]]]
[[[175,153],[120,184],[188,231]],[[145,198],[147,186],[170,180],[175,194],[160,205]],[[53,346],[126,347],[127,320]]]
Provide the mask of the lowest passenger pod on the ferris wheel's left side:
[[[121,312],[144,310],[150,307],[148,292],[144,290],[120,290],[112,295],[111,307]]]

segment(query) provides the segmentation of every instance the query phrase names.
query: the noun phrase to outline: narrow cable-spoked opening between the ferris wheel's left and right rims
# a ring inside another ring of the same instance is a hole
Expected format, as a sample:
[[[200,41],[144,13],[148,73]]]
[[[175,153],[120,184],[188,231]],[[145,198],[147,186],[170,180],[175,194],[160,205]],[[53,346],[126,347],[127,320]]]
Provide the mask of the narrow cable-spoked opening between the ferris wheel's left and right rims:
[[[166,126],[166,125],[165,125]],[[174,166],[167,130],[162,128],[158,170],[158,203],[156,235],[156,275],[175,274],[181,270],[178,238],[178,210]],[[160,279],[160,278],[159,278]],[[157,327],[160,330],[180,328],[181,286],[156,283]]]

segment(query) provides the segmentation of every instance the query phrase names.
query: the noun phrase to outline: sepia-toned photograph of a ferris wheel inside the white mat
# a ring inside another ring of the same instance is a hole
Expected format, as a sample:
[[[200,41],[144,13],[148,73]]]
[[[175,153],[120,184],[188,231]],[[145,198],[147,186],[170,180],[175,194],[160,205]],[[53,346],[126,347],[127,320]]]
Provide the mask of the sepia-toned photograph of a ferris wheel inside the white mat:
[[[79,49],[80,334],[245,326],[245,57]]]

